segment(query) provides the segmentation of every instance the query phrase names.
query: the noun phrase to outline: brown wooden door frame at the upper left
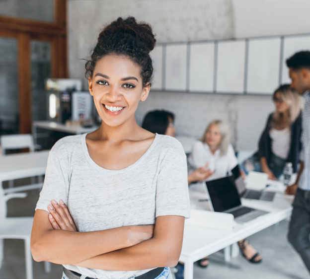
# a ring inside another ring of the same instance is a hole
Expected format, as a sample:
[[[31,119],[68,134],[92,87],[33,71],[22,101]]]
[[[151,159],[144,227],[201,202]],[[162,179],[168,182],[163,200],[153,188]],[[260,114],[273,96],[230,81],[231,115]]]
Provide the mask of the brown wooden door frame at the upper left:
[[[0,37],[17,39],[19,133],[30,134],[32,124],[30,41],[51,42],[51,77],[68,77],[67,0],[54,0],[53,23],[0,16]]]

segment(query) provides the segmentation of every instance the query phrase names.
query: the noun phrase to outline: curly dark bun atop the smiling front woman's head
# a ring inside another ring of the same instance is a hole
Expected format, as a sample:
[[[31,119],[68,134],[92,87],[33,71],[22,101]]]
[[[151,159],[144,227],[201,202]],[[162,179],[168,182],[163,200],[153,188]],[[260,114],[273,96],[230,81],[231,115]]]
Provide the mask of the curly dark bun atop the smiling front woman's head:
[[[144,50],[151,52],[155,47],[155,35],[152,27],[146,22],[137,22],[133,16],[125,19],[119,17],[106,26],[98,37],[98,42],[104,42],[113,35],[123,33],[125,37],[136,38],[139,41],[140,47],[144,46]],[[129,40],[129,41],[130,41]]]

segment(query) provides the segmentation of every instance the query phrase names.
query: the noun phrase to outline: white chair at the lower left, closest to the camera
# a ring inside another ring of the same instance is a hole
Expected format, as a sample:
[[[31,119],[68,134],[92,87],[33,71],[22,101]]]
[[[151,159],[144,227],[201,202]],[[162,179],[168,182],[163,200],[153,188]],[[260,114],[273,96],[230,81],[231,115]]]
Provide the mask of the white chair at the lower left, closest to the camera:
[[[6,217],[6,202],[12,198],[25,198],[26,193],[4,195],[0,187],[0,269],[4,258],[4,239],[23,239],[25,244],[26,279],[33,279],[30,236],[33,217]],[[51,272],[51,263],[44,262],[46,273]]]

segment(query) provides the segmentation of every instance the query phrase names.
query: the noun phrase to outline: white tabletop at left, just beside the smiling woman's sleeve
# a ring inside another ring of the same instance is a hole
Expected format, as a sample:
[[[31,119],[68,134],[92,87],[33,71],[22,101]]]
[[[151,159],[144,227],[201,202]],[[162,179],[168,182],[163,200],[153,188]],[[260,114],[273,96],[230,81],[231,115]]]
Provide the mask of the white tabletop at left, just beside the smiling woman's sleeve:
[[[0,181],[44,175],[49,150],[0,156]]]

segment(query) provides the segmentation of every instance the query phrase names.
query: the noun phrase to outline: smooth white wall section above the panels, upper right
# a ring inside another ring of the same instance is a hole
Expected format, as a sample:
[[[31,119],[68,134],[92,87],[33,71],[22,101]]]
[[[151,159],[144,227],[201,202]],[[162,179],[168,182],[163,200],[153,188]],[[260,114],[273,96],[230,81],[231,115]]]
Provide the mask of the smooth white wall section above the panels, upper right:
[[[309,0],[233,0],[234,37],[310,33]]]

